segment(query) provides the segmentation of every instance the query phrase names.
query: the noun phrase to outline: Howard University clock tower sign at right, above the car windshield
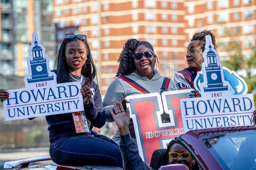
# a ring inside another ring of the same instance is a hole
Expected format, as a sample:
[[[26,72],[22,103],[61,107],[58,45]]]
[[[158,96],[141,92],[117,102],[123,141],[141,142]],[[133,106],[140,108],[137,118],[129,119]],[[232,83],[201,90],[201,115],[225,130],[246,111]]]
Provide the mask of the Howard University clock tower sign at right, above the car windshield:
[[[211,36],[206,36],[201,70],[204,81],[200,84],[202,97],[180,99],[184,132],[253,124],[253,95],[231,95],[230,84],[224,79],[219,55],[212,47]]]

